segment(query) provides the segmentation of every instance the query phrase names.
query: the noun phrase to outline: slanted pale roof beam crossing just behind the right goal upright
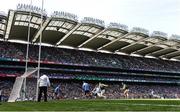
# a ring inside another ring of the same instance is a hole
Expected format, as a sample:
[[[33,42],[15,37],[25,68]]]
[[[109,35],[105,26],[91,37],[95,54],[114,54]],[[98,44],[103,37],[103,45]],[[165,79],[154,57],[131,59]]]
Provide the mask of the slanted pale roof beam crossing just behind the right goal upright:
[[[43,23],[42,27],[38,30],[38,32],[36,33],[36,35],[34,36],[34,39],[32,40],[32,42],[36,42],[36,40],[39,38],[40,34],[44,31],[44,29],[48,26],[48,24],[50,23],[50,21],[52,20],[52,18],[47,18],[46,21]]]

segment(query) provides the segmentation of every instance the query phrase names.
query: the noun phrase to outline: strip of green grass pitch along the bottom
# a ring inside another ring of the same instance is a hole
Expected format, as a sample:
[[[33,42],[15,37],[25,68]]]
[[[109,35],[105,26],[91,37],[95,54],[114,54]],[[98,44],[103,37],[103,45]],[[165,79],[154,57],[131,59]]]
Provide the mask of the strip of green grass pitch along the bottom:
[[[180,100],[60,100],[3,102],[0,111],[180,111]]]

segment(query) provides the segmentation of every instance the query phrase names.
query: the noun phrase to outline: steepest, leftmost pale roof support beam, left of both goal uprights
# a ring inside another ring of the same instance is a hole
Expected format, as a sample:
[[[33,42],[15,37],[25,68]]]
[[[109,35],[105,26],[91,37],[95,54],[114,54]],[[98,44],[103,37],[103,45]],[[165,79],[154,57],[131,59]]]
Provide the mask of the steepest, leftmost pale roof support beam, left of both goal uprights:
[[[5,33],[5,39],[6,40],[9,38],[9,34],[10,34],[11,27],[13,24],[14,15],[15,15],[15,11],[10,10],[9,11],[9,17],[8,17],[8,23],[7,23],[7,27],[6,27],[6,33]]]

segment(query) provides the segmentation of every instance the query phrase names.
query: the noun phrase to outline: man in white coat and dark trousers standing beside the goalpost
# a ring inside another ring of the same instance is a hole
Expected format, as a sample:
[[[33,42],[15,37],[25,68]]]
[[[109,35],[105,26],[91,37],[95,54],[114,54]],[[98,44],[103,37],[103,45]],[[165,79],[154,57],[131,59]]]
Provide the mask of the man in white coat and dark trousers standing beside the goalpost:
[[[50,86],[50,81],[47,75],[42,75],[38,80],[39,94],[38,102],[41,101],[42,93],[44,93],[44,101],[47,102],[47,88]]]

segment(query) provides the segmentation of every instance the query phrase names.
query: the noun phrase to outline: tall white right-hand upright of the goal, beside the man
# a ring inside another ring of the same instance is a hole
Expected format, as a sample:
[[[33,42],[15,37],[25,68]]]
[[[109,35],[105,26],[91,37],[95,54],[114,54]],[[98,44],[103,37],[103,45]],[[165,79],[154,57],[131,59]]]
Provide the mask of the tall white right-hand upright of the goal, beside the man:
[[[42,9],[41,9],[41,25],[40,28],[42,28],[43,24],[43,9],[44,9],[44,0],[42,0]],[[42,31],[43,32],[43,31]],[[37,87],[36,87],[36,100],[38,100],[38,91],[39,91],[39,85],[38,85],[38,79],[40,77],[40,64],[41,64],[41,43],[42,43],[42,32],[40,34],[39,38],[39,56],[38,56],[38,71],[37,71]]]

